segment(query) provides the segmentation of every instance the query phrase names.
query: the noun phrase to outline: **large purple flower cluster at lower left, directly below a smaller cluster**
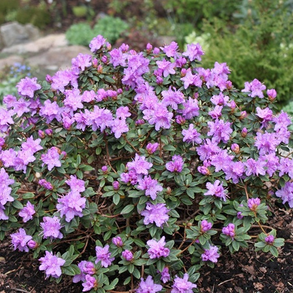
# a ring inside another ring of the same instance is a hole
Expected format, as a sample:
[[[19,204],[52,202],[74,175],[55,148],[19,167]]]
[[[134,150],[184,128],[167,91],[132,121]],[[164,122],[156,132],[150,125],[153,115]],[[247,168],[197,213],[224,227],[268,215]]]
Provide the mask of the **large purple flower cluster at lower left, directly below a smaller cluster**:
[[[70,191],[67,195],[58,198],[56,205],[60,217],[65,215],[65,221],[70,222],[75,216],[82,217],[82,210],[86,206],[86,198],[81,197],[78,191]]]

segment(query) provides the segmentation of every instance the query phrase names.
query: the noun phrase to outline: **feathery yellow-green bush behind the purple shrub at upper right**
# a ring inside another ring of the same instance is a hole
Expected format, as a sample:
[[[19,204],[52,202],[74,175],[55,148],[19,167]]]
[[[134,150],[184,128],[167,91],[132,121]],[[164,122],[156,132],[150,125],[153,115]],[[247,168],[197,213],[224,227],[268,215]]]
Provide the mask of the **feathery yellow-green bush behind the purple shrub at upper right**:
[[[214,60],[226,62],[236,87],[257,78],[267,88],[275,88],[278,100],[285,104],[293,97],[292,10],[285,4],[273,5],[276,1],[269,1],[269,6],[256,2],[232,29],[219,19],[212,24],[205,21],[202,30],[210,38],[203,67]]]

